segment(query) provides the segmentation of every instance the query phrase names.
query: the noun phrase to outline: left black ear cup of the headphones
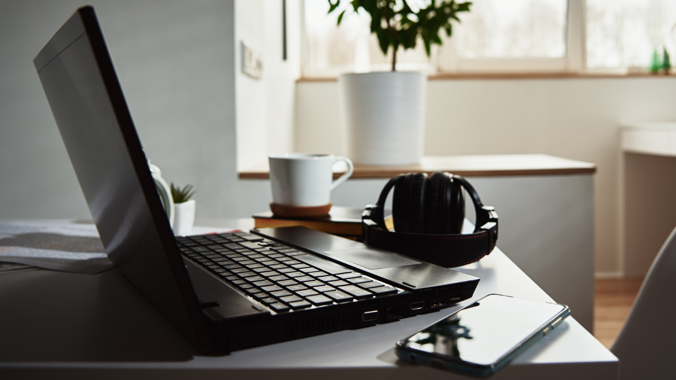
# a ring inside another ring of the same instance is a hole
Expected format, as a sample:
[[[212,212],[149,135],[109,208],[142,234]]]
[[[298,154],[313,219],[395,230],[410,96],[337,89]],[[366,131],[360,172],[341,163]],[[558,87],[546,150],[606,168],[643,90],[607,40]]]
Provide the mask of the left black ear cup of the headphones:
[[[426,173],[409,173],[402,183],[395,185],[392,199],[394,230],[404,233],[423,233],[425,229]]]

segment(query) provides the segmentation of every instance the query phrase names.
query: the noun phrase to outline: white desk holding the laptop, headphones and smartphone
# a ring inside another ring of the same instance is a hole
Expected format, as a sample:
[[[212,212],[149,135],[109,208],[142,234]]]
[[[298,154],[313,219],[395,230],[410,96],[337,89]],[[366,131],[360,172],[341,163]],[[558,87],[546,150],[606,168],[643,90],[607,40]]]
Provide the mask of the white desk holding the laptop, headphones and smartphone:
[[[502,293],[552,302],[499,249],[458,270],[481,279],[473,300]],[[395,341],[460,306],[227,356],[199,356],[117,270],[32,270],[0,276],[0,285],[3,380],[466,379],[402,362],[393,351]],[[569,317],[491,379],[617,379],[618,367],[617,358]]]

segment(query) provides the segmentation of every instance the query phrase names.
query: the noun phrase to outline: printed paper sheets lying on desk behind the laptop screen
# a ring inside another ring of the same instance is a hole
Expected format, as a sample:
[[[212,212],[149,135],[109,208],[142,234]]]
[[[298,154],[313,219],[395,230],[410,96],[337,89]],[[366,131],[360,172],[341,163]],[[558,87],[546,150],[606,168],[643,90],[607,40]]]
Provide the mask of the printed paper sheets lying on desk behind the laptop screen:
[[[235,232],[193,227],[187,235]],[[0,261],[94,275],[114,267],[94,224],[0,222]]]

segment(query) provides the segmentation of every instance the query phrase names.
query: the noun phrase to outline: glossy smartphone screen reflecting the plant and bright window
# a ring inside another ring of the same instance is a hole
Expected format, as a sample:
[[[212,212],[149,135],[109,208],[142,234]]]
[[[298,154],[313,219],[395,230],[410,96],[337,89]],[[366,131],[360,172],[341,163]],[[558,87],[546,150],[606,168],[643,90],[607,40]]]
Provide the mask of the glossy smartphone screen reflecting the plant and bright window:
[[[402,343],[452,360],[490,365],[562,312],[566,306],[489,295]]]

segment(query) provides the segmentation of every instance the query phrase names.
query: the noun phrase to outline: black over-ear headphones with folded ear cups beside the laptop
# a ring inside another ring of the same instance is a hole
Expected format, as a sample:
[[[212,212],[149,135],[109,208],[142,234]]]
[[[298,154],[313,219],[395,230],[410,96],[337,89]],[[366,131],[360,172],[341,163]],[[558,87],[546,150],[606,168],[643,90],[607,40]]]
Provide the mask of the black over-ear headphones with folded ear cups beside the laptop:
[[[385,226],[385,199],[394,187],[394,232]],[[466,190],[477,215],[473,233],[462,235]],[[462,176],[447,172],[398,174],[383,187],[378,202],[362,214],[366,245],[452,267],[490,254],[498,241],[498,214],[483,206],[477,191]]]

